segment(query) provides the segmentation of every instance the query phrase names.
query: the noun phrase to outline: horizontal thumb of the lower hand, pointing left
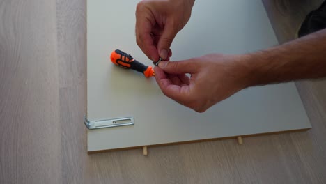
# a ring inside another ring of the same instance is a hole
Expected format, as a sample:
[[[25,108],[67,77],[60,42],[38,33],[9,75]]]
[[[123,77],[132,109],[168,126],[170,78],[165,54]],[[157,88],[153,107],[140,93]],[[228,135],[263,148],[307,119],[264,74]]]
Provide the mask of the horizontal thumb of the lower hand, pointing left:
[[[169,74],[194,73],[199,70],[199,63],[192,59],[183,61],[161,61],[159,67]]]

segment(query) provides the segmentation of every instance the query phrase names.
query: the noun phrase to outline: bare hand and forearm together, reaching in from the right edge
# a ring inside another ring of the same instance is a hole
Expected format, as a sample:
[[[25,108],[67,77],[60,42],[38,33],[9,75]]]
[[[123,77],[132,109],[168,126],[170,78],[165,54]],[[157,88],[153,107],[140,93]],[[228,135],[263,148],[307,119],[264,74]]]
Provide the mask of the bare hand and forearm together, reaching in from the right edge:
[[[185,61],[161,61],[160,68],[154,68],[155,77],[166,96],[196,112],[204,112],[248,86],[326,77],[325,43],[323,29],[250,54],[210,54]]]

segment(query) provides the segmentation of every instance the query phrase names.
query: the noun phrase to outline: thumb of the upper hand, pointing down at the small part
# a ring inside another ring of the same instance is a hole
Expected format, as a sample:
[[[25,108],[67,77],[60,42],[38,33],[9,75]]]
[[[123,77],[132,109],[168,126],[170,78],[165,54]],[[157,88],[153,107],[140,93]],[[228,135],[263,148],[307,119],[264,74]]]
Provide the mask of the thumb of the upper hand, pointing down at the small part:
[[[173,28],[171,23],[165,25],[164,31],[157,43],[157,49],[162,59],[165,60],[168,58],[169,49],[177,33],[178,31]]]

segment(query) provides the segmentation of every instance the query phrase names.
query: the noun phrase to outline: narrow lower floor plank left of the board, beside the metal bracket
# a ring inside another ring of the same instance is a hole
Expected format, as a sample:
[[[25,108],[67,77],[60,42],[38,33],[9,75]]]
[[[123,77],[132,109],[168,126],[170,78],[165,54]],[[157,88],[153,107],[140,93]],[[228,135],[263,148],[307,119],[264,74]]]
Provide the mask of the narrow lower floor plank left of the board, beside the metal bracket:
[[[59,90],[61,122],[61,173],[63,183],[83,183],[88,167],[86,127],[86,88],[64,87]]]

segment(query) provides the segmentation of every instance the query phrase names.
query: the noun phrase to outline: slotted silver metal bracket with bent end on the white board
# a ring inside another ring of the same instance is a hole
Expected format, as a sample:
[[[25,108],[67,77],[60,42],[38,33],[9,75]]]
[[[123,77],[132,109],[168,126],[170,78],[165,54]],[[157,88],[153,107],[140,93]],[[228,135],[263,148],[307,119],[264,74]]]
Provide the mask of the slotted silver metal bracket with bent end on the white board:
[[[84,124],[86,128],[89,130],[99,129],[99,128],[111,128],[117,126],[125,126],[125,125],[134,125],[134,118],[114,118],[114,119],[104,119],[104,120],[96,120],[96,121],[88,121],[86,115],[84,115]]]

